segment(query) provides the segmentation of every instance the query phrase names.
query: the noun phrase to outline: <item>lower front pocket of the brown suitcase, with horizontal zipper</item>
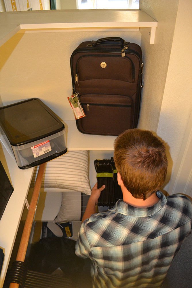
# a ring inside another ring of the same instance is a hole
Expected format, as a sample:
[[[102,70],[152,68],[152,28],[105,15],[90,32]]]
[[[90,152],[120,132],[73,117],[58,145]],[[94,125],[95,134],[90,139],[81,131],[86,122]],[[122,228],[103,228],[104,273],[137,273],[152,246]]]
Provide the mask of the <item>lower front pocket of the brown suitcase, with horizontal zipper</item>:
[[[86,134],[119,135],[132,128],[132,99],[122,95],[82,95],[86,117],[77,120],[78,129]]]

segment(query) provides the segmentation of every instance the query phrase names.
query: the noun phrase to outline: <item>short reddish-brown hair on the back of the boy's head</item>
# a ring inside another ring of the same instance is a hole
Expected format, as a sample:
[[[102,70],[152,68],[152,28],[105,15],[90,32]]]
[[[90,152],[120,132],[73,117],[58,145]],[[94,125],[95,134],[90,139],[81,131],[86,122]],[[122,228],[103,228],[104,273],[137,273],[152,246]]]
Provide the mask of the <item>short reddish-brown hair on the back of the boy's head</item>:
[[[166,148],[150,131],[122,132],[115,139],[114,161],[124,186],[135,198],[147,199],[165,182]]]

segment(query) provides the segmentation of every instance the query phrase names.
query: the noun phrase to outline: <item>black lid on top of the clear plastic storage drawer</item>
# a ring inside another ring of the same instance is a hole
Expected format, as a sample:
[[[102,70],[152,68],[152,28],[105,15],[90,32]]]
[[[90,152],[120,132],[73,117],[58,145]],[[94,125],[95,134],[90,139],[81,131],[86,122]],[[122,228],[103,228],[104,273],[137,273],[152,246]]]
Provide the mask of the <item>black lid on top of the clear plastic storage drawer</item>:
[[[1,107],[0,125],[13,146],[37,141],[65,128],[52,110],[38,98]]]

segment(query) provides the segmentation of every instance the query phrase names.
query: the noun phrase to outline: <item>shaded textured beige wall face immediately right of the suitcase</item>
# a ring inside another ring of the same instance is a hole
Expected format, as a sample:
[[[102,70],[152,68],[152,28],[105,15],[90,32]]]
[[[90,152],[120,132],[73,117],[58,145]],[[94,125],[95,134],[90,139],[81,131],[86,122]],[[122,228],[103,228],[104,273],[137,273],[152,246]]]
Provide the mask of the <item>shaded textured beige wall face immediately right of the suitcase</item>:
[[[179,0],[140,0],[140,9],[156,21],[155,44],[141,39],[145,79],[139,127],[157,132]]]

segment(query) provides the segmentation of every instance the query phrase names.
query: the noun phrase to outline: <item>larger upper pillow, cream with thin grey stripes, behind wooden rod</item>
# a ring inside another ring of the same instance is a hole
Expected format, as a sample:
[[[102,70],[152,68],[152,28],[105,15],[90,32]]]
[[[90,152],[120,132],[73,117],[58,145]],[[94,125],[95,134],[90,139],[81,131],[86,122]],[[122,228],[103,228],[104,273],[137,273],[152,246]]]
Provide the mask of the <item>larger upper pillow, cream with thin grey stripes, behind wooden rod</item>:
[[[35,185],[39,166],[35,170],[31,186]],[[91,194],[88,179],[88,151],[67,151],[46,163],[42,188],[58,188]]]

